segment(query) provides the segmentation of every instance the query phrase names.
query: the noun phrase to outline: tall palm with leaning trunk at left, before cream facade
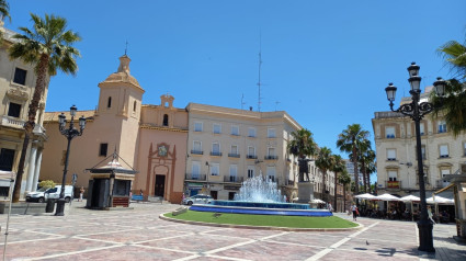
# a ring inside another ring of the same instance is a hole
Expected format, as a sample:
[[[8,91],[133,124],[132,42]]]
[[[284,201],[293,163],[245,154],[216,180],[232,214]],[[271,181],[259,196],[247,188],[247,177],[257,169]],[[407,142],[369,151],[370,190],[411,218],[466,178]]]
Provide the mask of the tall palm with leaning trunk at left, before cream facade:
[[[24,124],[25,135],[14,184],[13,202],[20,200],[25,156],[35,126],[35,115],[46,84],[46,78],[55,76],[57,70],[75,75],[78,70],[76,58],[80,56],[79,50],[72,47],[72,44],[81,38],[77,33],[66,30],[67,22],[64,18],[45,14],[45,19],[42,19],[33,13],[31,18],[34,22],[33,30],[20,27],[23,34],[13,35],[13,38],[18,42],[9,48],[11,59],[19,58],[24,63],[35,65],[37,75],[33,99],[27,112],[27,122]]]

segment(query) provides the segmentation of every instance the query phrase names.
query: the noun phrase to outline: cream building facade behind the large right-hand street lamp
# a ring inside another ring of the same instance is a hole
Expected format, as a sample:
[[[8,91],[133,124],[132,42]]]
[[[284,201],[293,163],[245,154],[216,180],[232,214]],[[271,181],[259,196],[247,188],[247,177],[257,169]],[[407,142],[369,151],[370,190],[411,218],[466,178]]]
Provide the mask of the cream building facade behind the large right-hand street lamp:
[[[421,94],[421,102],[429,97]],[[401,103],[409,102],[404,98]],[[372,120],[376,154],[378,194],[419,193],[414,122],[400,113],[376,112]],[[446,174],[466,172],[466,135],[454,137],[441,118],[427,115],[420,123],[424,181],[428,195],[448,184]]]

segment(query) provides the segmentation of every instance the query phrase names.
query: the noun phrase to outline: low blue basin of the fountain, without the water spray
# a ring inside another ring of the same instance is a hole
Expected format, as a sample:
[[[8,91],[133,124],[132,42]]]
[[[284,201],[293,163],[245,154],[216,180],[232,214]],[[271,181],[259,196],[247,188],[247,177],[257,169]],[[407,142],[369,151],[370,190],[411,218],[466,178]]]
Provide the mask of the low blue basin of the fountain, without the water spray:
[[[219,201],[225,204],[226,201]],[[212,204],[194,204],[190,207],[191,211],[196,212],[216,212],[216,213],[230,213],[230,214],[250,214],[250,215],[281,215],[281,216],[316,216],[325,217],[332,216],[332,213],[328,209],[309,208],[305,204],[293,204],[293,203],[257,203],[257,202],[228,202],[228,205],[218,205],[217,201],[213,201]],[[235,205],[239,203],[239,205]],[[261,204],[266,204],[259,206]],[[255,205],[255,206],[254,206]],[[293,206],[295,205],[295,206]],[[292,208],[303,207],[307,208]]]

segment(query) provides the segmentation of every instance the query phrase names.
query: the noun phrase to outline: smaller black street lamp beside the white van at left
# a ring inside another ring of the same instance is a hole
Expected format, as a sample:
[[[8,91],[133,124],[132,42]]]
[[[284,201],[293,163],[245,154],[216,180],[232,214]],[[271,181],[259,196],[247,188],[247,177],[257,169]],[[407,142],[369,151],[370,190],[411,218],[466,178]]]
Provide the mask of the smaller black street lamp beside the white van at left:
[[[79,130],[75,128],[75,116],[76,113],[78,112],[78,109],[72,105],[70,107],[70,114],[71,114],[71,120],[69,122],[69,128],[65,128],[66,127],[66,116],[64,113],[61,113],[60,115],[58,115],[58,128],[60,130],[60,133],[62,135],[65,135],[65,137],[67,137],[68,139],[68,146],[67,146],[67,154],[66,154],[66,158],[65,158],[65,169],[64,169],[64,179],[61,181],[61,192],[60,192],[60,198],[58,200],[57,203],[57,211],[55,212],[55,216],[64,216],[65,213],[65,183],[66,183],[66,177],[67,177],[67,171],[68,171],[68,158],[69,158],[69,147],[71,145],[71,139],[75,138],[76,136],[81,136],[82,135],[82,130],[84,130],[84,126],[86,126],[86,117],[81,116],[79,118]]]

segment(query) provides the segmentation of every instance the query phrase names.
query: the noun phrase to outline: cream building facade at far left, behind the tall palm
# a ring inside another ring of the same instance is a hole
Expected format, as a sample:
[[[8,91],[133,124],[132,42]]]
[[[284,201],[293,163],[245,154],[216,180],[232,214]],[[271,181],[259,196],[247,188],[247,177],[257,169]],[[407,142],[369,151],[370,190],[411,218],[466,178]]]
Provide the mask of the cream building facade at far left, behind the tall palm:
[[[10,60],[8,47],[14,42],[13,31],[2,27],[3,43],[0,47],[0,170],[18,172],[24,139],[24,123],[33,99],[36,75],[34,66],[19,59]],[[39,175],[42,151],[46,135],[43,127],[48,80],[36,115],[36,125],[31,137],[25,159],[21,198],[26,192],[35,191]],[[0,195],[8,196],[9,183],[0,183]]]

